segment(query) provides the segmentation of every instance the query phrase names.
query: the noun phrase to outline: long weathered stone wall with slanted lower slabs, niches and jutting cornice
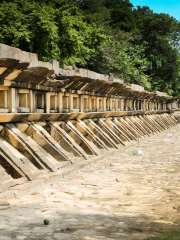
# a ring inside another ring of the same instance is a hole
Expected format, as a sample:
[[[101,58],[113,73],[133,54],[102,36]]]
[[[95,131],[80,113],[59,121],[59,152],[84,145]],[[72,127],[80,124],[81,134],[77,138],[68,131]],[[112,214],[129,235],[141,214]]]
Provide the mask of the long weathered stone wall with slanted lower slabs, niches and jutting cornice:
[[[0,44],[0,193],[176,125],[179,101]]]

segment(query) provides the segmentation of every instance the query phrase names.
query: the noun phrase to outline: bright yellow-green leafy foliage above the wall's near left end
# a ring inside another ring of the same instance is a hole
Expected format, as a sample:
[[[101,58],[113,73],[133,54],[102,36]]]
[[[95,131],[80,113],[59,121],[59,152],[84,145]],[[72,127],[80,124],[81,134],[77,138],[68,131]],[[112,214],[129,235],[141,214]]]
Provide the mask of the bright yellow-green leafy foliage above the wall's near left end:
[[[69,3],[68,3],[69,2]],[[85,64],[105,39],[101,29],[83,21],[72,1],[15,0],[0,5],[0,42],[61,66]]]

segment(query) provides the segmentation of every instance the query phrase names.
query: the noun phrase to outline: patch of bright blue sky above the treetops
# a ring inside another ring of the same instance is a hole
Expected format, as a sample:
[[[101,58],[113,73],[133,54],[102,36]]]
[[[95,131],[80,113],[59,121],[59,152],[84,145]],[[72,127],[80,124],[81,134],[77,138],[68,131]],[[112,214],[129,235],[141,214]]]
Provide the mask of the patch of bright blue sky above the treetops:
[[[148,6],[155,13],[168,13],[180,21],[180,0],[130,0],[136,7]]]

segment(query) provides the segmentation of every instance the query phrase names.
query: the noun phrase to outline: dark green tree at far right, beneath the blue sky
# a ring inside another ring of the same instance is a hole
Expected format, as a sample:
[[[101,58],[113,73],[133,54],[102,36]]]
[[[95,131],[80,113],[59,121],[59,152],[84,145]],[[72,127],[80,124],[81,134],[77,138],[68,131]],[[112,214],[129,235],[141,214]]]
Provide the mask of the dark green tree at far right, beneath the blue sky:
[[[133,10],[137,32],[141,39],[135,44],[145,46],[144,55],[151,67],[146,74],[151,76],[152,90],[173,94],[179,81],[179,31],[180,23],[168,14],[153,13],[148,7]]]

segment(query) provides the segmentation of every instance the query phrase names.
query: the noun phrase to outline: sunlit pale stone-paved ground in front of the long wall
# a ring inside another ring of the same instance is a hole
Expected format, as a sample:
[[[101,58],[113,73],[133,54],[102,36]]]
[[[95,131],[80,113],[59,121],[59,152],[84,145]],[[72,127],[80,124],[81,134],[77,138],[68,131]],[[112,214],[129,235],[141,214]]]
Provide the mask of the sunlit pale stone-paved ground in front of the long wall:
[[[143,156],[133,155],[133,141],[97,164],[1,204],[1,239],[168,236],[180,219],[180,125],[171,132],[172,138],[167,130],[141,140]]]

